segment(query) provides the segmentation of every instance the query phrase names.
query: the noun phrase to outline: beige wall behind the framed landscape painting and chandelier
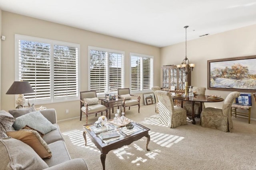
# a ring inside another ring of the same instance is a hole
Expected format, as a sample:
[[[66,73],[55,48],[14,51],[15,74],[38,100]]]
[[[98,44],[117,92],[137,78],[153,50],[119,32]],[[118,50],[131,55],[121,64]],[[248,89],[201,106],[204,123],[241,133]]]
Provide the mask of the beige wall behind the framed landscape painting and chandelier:
[[[192,86],[207,87],[207,60],[256,55],[256,25],[210,35],[187,42],[187,57],[196,67],[192,71]],[[187,35],[189,36],[189,35]],[[185,43],[161,48],[160,65],[180,64],[185,57]],[[162,82],[161,82],[162,85]],[[230,91],[206,90],[206,95],[221,95]],[[222,108],[222,102],[206,107]],[[252,115],[256,119],[256,103],[252,99]]]

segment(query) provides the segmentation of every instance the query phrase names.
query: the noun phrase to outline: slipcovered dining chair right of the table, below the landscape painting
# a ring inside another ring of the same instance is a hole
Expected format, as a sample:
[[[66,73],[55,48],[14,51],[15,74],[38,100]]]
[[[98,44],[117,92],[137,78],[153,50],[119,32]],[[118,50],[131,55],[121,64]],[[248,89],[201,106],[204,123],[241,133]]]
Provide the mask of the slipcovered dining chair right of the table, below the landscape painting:
[[[239,95],[240,93],[237,91],[229,93],[224,100],[222,109],[206,107],[201,113],[201,126],[230,132],[233,128],[230,110],[234,99]]]

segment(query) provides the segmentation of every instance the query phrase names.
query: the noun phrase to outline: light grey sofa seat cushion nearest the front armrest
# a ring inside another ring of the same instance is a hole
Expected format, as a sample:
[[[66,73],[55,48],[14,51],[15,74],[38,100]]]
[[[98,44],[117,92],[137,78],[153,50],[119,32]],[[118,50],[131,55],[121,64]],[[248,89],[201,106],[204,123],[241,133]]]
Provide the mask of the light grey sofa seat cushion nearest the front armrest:
[[[52,158],[44,158],[44,161],[49,167],[71,160],[71,157],[66,148],[66,144],[63,140],[58,140],[56,142],[48,144],[48,146],[52,151]]]

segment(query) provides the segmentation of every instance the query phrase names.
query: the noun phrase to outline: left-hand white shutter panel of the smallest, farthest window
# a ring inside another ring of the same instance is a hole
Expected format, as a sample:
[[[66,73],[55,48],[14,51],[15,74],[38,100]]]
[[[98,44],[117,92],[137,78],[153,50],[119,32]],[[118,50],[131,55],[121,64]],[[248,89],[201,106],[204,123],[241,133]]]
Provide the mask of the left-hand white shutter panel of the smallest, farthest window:
[[[131,91],[140,91],[142,88],[141,82],[142,58],[131,56]]]

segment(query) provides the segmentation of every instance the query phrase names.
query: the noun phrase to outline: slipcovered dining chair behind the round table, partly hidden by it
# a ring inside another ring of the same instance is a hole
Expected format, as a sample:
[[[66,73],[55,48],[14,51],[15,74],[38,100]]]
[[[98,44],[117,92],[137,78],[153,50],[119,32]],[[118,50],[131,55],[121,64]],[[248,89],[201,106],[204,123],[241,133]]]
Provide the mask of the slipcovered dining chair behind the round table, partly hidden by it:
[[[193,92],[196,92],[198,95],[205,95],[205,87],[193,87]],[[192,113],[192,102],[186,102],[183,105],[183,108],[186,109],[188,113]],[[195,102],[194,113],[200,115],[200,102]],[[202,103],[202,110],[205,108],[204,103]]]

